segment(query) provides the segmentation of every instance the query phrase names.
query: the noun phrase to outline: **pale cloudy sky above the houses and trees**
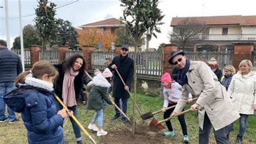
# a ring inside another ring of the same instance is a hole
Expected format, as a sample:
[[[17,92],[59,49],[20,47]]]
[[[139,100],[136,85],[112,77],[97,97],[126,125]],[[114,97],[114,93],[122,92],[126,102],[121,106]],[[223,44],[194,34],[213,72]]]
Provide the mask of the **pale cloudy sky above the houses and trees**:
[[[5,25],[5,1],[0,0],[0,39],[6,40]],[[74,27],[97,22],[107,18],[117,18],[123,16],[123,8],[119,0],[49,0],[57,4],[56,18],[69,20]],[[152,37],[149,47],[157,48],[161,43],[170,43],[168,33],[171,31],[172,17],[201,17],[201,16],[228,16],[256,15],[255,0],[159,0],[158,8],[165,15],[160,25],[161,33],[157,34],[157,39]],[[38,2],[36,0],[22,0],[22,25],[35,25],[35,9]],[[18,0],[9,0],[9,24],[11,45],[14,39],[19,36],[19,9]],[[28,16],[32,15],[32,16]]]

